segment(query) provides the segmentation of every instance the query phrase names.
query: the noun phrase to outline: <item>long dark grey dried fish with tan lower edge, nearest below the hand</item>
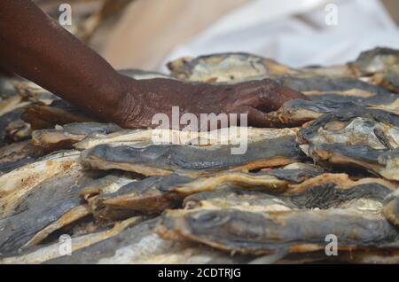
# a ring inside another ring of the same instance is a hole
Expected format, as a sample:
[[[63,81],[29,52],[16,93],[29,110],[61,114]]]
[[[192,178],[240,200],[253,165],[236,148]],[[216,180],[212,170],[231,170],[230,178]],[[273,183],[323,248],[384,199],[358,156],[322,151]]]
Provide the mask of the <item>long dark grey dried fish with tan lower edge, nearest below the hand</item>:
[[[167,176],[178,172],[200,176],[227,169],[252,170],[282,166],[305,160],[293,136],[270,137],[247,144],[246,153],[231,154],[236,145],[145,145],[106,144],[84,151],[87,168],[121,169],[145,176]]]

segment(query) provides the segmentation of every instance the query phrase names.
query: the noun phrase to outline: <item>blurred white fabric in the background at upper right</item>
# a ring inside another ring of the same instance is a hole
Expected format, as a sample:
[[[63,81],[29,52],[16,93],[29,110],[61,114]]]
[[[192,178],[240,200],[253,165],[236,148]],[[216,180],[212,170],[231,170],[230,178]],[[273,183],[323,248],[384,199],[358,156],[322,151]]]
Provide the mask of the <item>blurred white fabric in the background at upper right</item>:
[[[329,3],[338,7],[336,26],[325,24]],[[177,46],[165,63],[246,51],[290,67],[336,65],[376,46],[399,48],[398,28],[379,0],[253,0]]]

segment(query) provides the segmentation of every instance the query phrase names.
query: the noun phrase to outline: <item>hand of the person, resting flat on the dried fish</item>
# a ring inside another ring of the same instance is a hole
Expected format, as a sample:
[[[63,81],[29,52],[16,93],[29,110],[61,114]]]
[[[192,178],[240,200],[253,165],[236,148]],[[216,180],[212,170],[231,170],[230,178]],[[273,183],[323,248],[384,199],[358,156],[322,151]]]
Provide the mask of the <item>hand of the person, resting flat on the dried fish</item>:
[[[270,79],[234,85],[192,84],[168,79],[123,79],[123,94],[113,115],[124,128],[153,128],[155,114],[247,114],[248,126],[267,127],[265,113],[277,110],[286,101],[304,98]],[[239,124],[238,124],[239,125]]]

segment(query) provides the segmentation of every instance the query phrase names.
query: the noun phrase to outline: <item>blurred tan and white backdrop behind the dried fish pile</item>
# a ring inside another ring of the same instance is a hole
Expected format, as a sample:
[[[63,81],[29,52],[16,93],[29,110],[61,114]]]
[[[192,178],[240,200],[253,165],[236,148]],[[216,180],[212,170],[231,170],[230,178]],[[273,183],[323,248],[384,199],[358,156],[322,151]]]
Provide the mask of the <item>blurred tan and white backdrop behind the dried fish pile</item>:
[[[35,0],[115,68],[164,71],[185,56],[246,51],[291,67],[399,49],[397,0]]]

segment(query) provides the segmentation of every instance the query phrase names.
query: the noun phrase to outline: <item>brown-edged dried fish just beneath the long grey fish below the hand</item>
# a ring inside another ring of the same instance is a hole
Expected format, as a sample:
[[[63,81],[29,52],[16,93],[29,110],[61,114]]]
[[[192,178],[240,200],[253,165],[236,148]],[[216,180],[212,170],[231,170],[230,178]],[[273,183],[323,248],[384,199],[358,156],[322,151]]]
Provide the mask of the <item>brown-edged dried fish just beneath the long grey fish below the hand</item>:
[[[282,192],[289,184],[300,183],[320,173],[314,166],[300,165],[299,168],[289,166],[257,173],[218,173],[200,178],[176,174],[153,176],[117,185],[116,191],[90,198],[89,203],[98,221],[113,222],[131,215],[160,214],[166,208],[181,207],[184,197],[197,192],[216,191],[224,187]],[[85,195],[92,193],[92,189],[84,189],[83,192],[83,197],[87,198]]]

